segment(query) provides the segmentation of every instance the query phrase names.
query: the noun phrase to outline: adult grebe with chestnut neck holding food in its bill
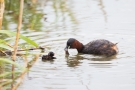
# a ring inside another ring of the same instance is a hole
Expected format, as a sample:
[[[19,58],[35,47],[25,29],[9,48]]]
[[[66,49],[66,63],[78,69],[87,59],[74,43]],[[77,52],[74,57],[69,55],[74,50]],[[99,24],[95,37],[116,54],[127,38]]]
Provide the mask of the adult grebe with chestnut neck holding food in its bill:
[[[118,53],[118,48],[116,44],[104,39],[94,40],[86,45],[83,45],[78,40],[70,38],[68,39],[65,48],[66,54],[69,54],[68,48],[77,49],[78,53],[84,54],[112,56]]]

